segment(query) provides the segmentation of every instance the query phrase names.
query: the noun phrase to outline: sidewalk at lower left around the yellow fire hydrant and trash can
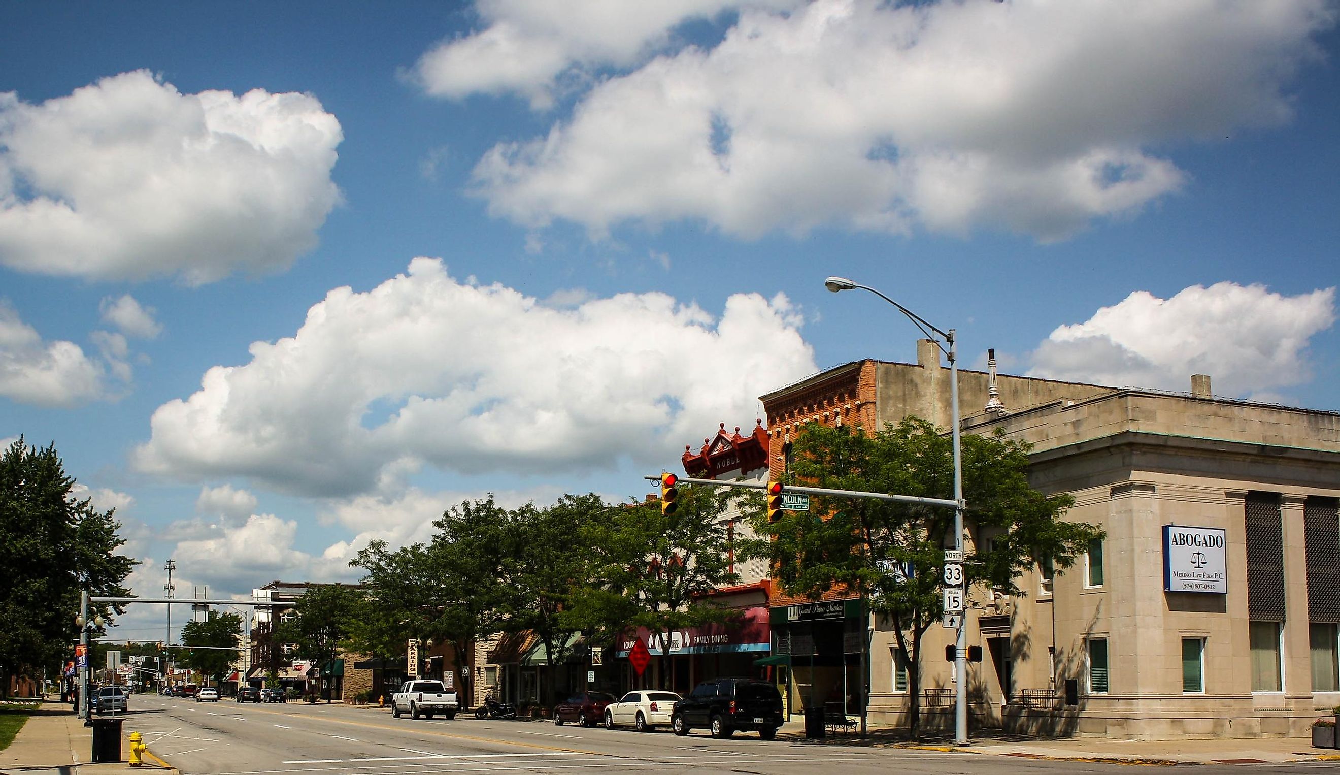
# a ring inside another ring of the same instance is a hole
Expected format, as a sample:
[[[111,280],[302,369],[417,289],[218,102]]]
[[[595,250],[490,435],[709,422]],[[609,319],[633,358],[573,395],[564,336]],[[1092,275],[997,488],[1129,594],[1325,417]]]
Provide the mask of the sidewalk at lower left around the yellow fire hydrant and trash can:
[[[130,723],[122,725],[121,762],[92,764],[92,728],[83,725],[83,720],[75,716],[70,703],[47,701],[28,717],[13,743],[0,751],[0,772],[4,775],[125,772],[130,770],[130,764],[126,763],[130,743],[126,737],[133,731]],[[137,771],[177,772],[149,763]]]

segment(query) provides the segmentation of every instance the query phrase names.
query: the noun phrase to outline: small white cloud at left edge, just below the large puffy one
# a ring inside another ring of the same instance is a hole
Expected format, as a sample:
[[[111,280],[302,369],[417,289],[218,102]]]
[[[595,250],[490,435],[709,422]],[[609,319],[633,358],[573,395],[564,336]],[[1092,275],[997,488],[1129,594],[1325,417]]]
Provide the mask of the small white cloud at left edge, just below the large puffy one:
[[[78,406],[105,397],[105,373],[79,345],[43,341],[0,299],[0,396],[35,406]]]

